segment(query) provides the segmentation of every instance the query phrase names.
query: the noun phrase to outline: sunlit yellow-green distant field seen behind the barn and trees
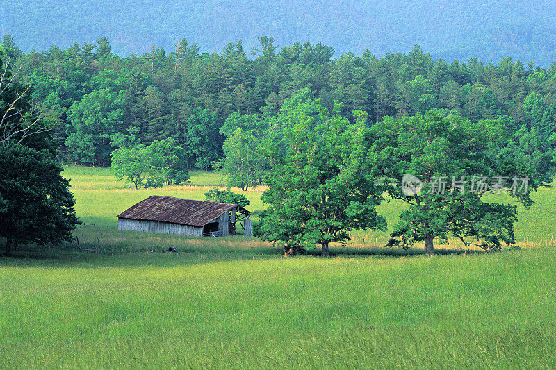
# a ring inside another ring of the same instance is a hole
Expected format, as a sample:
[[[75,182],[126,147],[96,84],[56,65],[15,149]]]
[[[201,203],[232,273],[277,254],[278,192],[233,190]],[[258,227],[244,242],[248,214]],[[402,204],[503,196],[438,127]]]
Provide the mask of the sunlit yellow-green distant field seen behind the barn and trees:
[[[204,193],[213,186],[222,186],[224,180],[218,171],[193,171],[190,183],[180,186],[164,187],[163,189],[135,190],[124,184],[123,180],[117,181],[113,174],[106,168],[68,166],[65,167],[64,176],[71,179],[72,192],[76,198],[76,212],[86,223],[95,223],[95,226],[117,226],[117,215],[131,207],[131,205],[153,194],[164,196],[177,196],[186,199],[204,200]],[[253,212],[252,219],[256,221],[257,215],[263,210],[261,194],[263,187],[245,192],[233,189],[247,196],[250,205],[247,207]],[[556,246],[556,188],[543,188],[533,194],[536,203],[530,209],[519,206],[519,221],[516,224],[516,237],[522,246],[539,246],[551,244]],[[509,201],[508,196],[491,196],[493,201]],[[398,220],[400,212],[404,210],[402,201],[384,201],[379,206],[379,213],[386,217],[388,230],[386,231],[354,231],[352,232],[352,247],[384,246],[393,225]],[[110,233],[107,230],[107,233]],[[552,242],[551,242],[552,241]],[[451,240],[449,249],[461,248],[461,243]]]

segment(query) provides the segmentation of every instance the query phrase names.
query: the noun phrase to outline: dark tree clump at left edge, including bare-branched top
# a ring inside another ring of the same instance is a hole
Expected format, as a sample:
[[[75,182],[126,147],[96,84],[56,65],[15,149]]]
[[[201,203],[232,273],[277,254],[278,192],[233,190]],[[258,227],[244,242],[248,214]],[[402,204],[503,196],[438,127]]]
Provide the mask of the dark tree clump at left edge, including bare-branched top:
[[[13,244],[57,244],[79,224],[70,182],[62,178],[49,124],[33,110],[28,87],[0,62],[0,237]]]

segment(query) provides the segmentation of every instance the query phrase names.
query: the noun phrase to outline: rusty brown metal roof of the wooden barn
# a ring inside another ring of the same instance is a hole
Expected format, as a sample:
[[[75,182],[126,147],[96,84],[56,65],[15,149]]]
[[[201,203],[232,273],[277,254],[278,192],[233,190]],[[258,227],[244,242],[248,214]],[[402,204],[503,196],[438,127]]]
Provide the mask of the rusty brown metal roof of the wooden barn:
[[[193,201],[191,199],[174,198],[173,196],[152,195],[124,210],[117,217],[204,226],[234,207],[249,212],[237,204]]]

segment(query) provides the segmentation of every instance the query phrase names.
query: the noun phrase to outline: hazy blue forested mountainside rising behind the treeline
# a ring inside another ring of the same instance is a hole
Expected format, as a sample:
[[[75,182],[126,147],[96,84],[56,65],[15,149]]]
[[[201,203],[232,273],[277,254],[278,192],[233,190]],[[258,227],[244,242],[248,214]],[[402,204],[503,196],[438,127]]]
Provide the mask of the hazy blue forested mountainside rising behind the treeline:
[[[0,6],[1,35],[28,52],[107,36],[120,57],[171,49],[185,37],[208,53],[231,40],[250,51],[257,37],[330,45],[377,56],[420,44],[435,58],[510,56],[544,67],[556,60],[556,8],[550,1],[31,1]],[[249,53],[247,53],[250,56]]]

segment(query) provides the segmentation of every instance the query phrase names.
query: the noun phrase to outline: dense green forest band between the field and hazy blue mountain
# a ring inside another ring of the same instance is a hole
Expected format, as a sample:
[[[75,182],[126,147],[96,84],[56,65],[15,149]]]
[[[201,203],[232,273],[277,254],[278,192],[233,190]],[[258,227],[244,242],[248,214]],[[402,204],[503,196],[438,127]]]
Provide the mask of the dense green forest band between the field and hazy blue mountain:
[[[56,120],[59,156],[67,162],[110,165],[117,142],[133,128],[145,146],[175,140],[188,167],[222,166],[234,133],[242,142],[249,141],[245,135],[257,140],[268,126],[261,122],[303,87],[329,110],[341,101],[339,114],[352,122],[357,110],[372,123],[433,108],[473,122],[500,119],[534,160],[548,166],[552,158],[556,64],[448,63],[418,45],[382,58],[368,51],[336,56],[320,43],[277,48],[272,37],[259,37],[251,59],[241,41],[209,54],[181,40],[173,50],[153,47],[126,58],[113,53],[106,37],[23,53],[6,36],[1,48],[4,64],[31,85],[36,109]]]

